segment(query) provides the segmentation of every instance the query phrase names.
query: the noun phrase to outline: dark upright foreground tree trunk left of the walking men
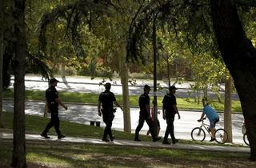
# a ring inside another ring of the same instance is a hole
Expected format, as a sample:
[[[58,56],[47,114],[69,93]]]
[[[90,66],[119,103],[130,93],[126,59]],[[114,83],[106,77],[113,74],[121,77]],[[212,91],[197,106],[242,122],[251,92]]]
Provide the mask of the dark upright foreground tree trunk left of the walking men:
[[[26,29],[25,0],[15,0],[14,8],[14,146],[12,166],[26,167],[25,140],[25,66],[26,66]]]

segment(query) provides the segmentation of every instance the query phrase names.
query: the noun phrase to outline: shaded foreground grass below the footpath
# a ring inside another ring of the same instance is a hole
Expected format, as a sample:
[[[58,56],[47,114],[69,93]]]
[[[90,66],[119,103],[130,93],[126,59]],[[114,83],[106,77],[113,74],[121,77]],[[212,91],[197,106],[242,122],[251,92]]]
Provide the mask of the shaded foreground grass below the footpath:
[[[12,143],[0,140],[0,166],[10,165]],[[249,154],[164,148],[26,142],[28,167],[254,167]]]

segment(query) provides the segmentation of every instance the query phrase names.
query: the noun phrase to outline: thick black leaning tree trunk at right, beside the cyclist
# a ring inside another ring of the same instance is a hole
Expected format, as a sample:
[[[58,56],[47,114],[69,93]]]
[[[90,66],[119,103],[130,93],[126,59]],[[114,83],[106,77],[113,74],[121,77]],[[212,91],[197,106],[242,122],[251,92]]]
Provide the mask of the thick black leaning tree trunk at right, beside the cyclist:
[[[250,142],[250,159],[256,160],[256,50],[242,28],[232,0],[211,0],[211,17],[222,58],[234,79]]]

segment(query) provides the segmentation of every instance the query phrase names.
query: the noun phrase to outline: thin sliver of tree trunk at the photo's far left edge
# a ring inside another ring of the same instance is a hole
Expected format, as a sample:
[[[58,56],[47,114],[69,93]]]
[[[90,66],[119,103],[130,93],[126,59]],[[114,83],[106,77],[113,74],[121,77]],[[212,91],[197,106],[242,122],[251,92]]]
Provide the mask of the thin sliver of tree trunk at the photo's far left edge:
[[[3,127],[2,124],[2,57],[3,57],[3,2],[0,1],[0,128]]]

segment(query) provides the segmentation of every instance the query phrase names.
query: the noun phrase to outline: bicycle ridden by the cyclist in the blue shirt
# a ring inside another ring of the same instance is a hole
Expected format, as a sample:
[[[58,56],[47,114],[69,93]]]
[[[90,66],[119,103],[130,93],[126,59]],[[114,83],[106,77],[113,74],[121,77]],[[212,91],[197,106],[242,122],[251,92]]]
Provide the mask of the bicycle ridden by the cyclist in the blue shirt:
[[[200,141],[200,142],[203,142],[206,138],[206,132],[208,134],[210,134],[210,126],[206,123],[204,123],[204,120],[206,118],[203,118],[201,120],[202,122],[202,125],[199,126],[199,127],[195,127],[192,131],[191,131],[191,138],[194,140],[194,141]],[[203,130],[203,128],[206,130]],[[211,135],[211,134],[210,134]],[[222,128],[219,128],[217,130],[215,130],[215,141],[218,142],[218,143],[221,143],[221,144],[224,144],[226,143],[227,141],[227,132],[226,130],[222,129]]]

